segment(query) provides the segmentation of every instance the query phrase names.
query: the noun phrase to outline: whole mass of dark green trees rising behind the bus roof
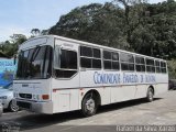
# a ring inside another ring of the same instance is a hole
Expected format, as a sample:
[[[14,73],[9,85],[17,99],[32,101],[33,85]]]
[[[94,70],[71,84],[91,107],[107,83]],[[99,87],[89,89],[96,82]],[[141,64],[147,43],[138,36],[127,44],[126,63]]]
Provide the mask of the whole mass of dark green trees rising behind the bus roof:
[[[135,0],[136,1],[136,0]],[[123,8],[116,3],[121,2]],[[176,57],[176,2],[148,4],[125,0],[92,3],[72,10],[50,30],[101,45],[162,57]]]

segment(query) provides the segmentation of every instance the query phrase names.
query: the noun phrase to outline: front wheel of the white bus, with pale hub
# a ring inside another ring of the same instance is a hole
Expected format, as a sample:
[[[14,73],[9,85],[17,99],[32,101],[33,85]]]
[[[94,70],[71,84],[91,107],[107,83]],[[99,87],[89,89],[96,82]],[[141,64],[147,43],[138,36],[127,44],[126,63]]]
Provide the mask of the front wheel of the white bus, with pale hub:
[[[90,92],[84,97],[81,111],[85,117],[94,116],[97,112],[97,102],[95,94]]]

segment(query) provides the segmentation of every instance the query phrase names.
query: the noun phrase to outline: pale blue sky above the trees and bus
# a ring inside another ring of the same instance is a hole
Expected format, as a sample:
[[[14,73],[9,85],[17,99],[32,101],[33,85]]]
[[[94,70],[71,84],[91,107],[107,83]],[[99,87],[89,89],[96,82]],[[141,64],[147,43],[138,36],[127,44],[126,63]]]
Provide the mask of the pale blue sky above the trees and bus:
[[[0,0],[0,42],[12,34],[31,35],[32,29],[47,30],[76,7],[112,0]],[[165,0],[148,0],[157,3]]]

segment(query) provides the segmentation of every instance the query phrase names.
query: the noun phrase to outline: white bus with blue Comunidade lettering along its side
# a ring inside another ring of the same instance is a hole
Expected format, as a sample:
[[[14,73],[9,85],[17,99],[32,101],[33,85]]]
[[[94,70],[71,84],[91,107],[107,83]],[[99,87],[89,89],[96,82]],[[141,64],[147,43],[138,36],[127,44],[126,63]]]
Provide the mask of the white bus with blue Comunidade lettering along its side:
[[[81,110],[146,98],[168,89],[166,61],[56,35],[38,36],[19,50],[13,81],[16,105],[33,112]]]

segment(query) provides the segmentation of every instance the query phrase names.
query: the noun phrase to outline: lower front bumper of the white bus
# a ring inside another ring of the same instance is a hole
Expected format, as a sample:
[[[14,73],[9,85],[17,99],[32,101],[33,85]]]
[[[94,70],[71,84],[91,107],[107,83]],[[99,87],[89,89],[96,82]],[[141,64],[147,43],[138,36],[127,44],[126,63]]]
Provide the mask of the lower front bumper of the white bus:
[[[53,113],[53,102],[37,102],[37,101],[26,101],[26,100],[20,100],[15,99],[15,103],[24,110],[36,112],[36,113],[46,113],[52,114]]]

